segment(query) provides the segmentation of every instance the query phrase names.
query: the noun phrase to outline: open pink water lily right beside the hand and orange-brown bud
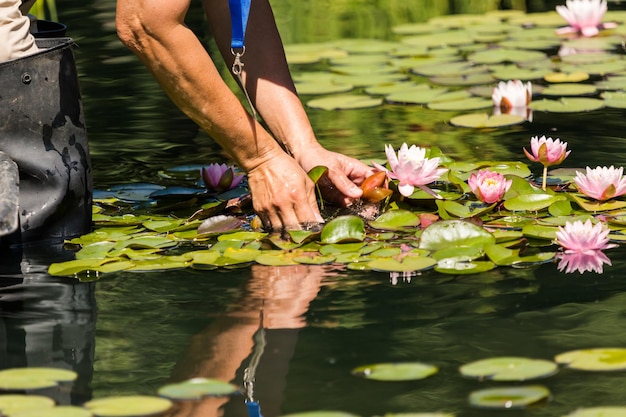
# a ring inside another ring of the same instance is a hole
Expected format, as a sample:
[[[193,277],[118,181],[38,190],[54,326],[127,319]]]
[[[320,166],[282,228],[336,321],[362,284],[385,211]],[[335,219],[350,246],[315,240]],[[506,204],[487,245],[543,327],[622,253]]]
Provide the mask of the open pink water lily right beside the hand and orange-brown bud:
[[[385,154],[391,171],[384,166],[373,162],[379,171],[385,171],[390,179],[398,180],[398,191],[405,197],[409,197],[418,187],[429,194],[439,197],[431,189],[426,187],[436,181],[448,170],[438,168],[439,158],[426,158],[426,149],[411,145],[409,148],[403,143],[398,150],[398,155],[391,145],[385,145]]]

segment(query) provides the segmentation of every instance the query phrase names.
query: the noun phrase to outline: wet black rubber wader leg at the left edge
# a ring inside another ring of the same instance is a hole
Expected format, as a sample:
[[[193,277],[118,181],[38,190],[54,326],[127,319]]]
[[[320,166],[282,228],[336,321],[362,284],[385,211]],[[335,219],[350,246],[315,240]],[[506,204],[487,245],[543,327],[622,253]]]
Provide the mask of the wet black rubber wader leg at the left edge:
[[[19,230],[6,242],[59,242],[91,228],[91,162],[71,38],[0,63],[0,151],[19,170]]]

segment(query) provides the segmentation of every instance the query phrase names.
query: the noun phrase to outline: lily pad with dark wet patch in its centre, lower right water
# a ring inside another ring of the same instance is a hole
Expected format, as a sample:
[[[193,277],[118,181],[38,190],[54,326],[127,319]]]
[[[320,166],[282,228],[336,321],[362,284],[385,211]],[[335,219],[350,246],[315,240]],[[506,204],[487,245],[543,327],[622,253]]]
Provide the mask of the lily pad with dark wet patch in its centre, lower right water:
[[[550,398],[550,391],[541,385],[488,388],[470,394],[470,405],[479,408],[520,409]]]

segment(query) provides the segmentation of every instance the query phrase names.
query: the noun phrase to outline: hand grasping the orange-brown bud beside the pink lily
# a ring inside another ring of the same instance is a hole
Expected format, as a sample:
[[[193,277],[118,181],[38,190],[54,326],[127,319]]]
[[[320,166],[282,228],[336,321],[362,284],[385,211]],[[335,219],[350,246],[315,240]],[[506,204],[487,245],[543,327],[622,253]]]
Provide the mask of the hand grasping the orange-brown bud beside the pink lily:
[[[349,206],[360,198],[363,191],[359,185],[374,174],[374,169],[349,156],[332,152],[323,147],[309,149],[298,163],[308,172],[316,166],[328,168],[328,175],[318,185],[325,199],[341,206]]]

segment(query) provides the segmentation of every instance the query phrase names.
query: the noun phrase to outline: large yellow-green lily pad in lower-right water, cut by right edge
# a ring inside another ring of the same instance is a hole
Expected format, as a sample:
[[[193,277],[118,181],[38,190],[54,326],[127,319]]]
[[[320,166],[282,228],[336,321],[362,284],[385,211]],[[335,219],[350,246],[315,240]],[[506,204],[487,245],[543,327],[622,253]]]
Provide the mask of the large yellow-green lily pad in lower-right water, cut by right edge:
[[[621,371],[626,369],[625,348],[580,349],[557,355],[554,360],[581,371]]]

